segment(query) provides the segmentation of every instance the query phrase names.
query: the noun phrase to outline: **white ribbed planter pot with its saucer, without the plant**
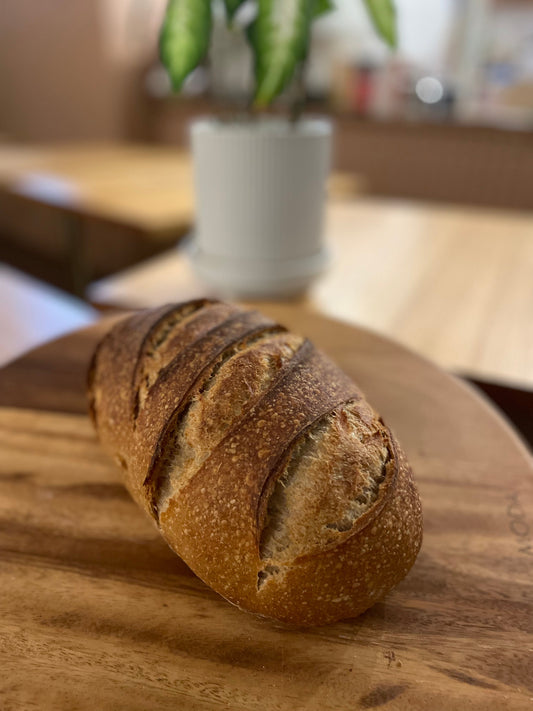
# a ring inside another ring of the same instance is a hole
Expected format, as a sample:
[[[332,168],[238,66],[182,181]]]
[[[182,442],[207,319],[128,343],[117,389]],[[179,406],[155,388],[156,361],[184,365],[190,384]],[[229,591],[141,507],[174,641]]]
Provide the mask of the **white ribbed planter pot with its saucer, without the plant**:
[[[228,296],[281,298],[323,270],[331,134],[323,119],[192,125],[193,261],[209,284]]]

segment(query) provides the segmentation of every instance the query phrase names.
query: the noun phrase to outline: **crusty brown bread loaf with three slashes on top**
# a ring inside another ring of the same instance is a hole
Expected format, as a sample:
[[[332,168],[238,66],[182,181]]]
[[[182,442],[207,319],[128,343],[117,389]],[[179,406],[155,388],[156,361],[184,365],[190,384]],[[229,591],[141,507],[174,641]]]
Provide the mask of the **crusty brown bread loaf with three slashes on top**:
[[[127,317],[89,397],[133,498],[235,605],[331,622],[413,565],[421,508],[398,443],[338,367],[261,314],[198,300]]]

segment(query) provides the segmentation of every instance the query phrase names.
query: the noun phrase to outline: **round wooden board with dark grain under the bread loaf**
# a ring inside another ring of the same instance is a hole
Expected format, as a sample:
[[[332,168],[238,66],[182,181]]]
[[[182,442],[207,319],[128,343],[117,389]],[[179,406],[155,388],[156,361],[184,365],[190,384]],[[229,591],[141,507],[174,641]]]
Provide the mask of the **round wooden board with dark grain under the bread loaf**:
[[[532,709],[533,465],[473,390],[291,307],[396,431],[425,538],[353,620],[283,629],[218,597],[100,452],[84,371],[105,325],[0,373],[0,709]]]

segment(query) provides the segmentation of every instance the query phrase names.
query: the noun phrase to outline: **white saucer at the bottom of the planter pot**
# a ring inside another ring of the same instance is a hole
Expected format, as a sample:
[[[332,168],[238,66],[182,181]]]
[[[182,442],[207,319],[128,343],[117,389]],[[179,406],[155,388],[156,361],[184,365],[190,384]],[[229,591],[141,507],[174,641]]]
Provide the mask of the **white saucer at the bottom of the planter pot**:
[[[195,271],[221,295],[241,299],[283,299],[302,294],[330,261],[327,249],[300,259],[250,260],[207,255],[193,248]]]

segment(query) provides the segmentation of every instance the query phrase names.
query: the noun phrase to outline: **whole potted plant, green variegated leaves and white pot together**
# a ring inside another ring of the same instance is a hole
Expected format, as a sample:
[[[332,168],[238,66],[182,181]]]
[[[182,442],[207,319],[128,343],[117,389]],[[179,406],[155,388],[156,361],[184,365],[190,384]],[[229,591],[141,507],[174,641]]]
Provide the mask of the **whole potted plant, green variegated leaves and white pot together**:
[[[362,0],[374,26],[396,42],[392,0]],[[244,118],[210,118],[191,127],[197,221],[194,263],[219,291],[238,297],[301,292],[324,268],[322,237],[331,124],[303,117],[304,72],[313,21],[332,0],[224,0],[232,23],[244,5],[255,14],[243,27],[254,57],[255,93]],[[204,59],[212,27],[211,0],[169,0],[161,59],[173,89]],[[292,83],[289,115],[264,109]]]

